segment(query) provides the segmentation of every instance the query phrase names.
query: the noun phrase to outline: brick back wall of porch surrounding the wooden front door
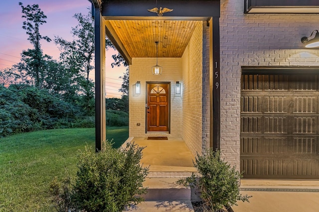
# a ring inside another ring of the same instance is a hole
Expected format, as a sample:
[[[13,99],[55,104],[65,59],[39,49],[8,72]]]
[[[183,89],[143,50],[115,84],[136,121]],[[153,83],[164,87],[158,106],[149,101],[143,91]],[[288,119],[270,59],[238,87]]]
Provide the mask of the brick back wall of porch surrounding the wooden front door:
[[[158,64],[163,67],[162,74],[152,74],[156,58],[133,58],[130,65],[130,137],[145,137],[146,134],[146,82],[170,82],[170,134],[166,136],[181,137],[181,95],[175,94],[176,81],[182,81],[181,58],[159,58]],[[133,88],[141,82],[141,94],[134,95]],[[141,123],[140,126],[137,123]],[[160,136],[160,134],[152,134]]]

